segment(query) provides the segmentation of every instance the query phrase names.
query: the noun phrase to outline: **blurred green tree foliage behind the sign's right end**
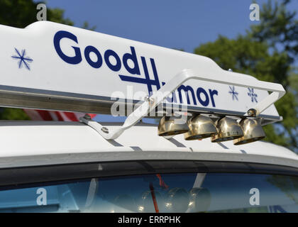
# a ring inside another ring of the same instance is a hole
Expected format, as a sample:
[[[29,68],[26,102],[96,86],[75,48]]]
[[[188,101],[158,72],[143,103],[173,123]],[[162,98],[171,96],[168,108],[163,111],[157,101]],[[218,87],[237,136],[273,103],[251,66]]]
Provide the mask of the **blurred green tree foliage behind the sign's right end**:
[[[261,80],[277,82],[287,94],[277,101],[277,111],[284,120],[265,126],[266,140],[297,150],[298,75],[294,67],[298,52],[296,12],[287,11],[289,1],[268,1],[260,11],[260,23],[235,39],[219,38],[200,45],[198,55],[211,57],[225,70],[250,74]]]

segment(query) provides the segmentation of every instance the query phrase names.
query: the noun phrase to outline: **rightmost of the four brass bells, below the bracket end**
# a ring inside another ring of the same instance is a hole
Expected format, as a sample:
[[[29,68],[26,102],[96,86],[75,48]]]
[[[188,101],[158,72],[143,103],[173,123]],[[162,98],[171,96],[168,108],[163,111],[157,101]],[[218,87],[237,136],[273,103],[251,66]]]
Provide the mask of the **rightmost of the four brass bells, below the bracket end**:
[[[234,145],[255,142],[266,136],[260,125],[260,118],[243,118],[240,121],[240,125],[243,128],[243,136],[233,140]]]

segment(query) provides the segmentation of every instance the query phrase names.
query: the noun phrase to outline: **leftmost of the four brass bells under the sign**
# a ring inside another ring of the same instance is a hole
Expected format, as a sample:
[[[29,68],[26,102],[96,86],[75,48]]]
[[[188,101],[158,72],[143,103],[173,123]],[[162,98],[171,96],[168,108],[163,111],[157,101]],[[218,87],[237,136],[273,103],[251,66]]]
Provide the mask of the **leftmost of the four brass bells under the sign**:
[[[158,135],[178,135],[188,131],[187,121],[182,116],[163,116],[158,124]]]

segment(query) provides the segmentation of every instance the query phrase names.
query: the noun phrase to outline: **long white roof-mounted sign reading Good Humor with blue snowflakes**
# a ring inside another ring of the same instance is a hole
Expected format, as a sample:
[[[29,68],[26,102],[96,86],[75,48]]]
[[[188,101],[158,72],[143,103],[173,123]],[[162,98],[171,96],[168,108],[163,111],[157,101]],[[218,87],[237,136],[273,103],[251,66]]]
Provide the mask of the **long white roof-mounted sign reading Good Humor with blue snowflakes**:
[[[278,90],[208,57],[59,23],[0,26],[0,35],[1,106],[109,114],[115,100],[144,100],[184,69],[201,79],[184,80],[163,102],[188,111],[243,115]],[[273,104],[260,116],[280,120]]]

